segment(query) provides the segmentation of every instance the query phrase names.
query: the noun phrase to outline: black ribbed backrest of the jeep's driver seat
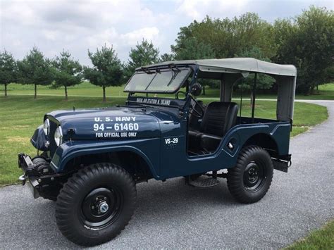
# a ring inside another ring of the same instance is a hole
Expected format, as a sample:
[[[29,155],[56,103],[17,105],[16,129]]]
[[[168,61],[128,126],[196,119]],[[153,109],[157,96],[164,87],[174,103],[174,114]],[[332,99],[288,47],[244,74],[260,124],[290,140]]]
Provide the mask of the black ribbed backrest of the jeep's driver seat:
[[[237,122],[237,104],[234,102],[211,102],[204,113],[201,132],[223,137]]]

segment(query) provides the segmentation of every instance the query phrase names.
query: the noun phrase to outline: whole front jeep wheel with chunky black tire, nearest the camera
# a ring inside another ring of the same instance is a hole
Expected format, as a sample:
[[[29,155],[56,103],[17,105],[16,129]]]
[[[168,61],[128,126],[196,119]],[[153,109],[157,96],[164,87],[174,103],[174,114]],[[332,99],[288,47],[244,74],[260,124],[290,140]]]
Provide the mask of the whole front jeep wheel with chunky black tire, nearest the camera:
[[[135,211],[135,181],[123,168],[99,163],[78,171],[61,189],[56,222],[75,244],[108,242],[128,225]]]

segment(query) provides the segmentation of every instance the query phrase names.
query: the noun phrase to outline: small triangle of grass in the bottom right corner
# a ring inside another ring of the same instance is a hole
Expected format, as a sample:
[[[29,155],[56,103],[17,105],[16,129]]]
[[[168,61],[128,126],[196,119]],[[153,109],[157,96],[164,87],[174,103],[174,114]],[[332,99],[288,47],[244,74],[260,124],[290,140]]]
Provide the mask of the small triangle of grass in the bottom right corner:
[[[334,220],[327,223],[321,229],[311,232],[311,234],[306,238],[299,239],[286,249],[334,249]]]

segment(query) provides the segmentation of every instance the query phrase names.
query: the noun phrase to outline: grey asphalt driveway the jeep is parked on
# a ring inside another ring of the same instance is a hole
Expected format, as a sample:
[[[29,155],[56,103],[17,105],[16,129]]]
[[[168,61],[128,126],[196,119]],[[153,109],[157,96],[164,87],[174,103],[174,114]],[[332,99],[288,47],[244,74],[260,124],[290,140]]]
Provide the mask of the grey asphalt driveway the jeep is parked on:
[[[211,189],[186,186],[183,178],[150,180],[137,185],[138,208],[128,227],[98,248],[278,249],[321,227],[334,218],[334,101],[319,104],[330,117],[292,139],[289,173],[275,171],[258,203],[237,204],[225,180]],[[0,189],[0,246],[78,247],[58,231],[54,202],[34,200],[22,186]]]

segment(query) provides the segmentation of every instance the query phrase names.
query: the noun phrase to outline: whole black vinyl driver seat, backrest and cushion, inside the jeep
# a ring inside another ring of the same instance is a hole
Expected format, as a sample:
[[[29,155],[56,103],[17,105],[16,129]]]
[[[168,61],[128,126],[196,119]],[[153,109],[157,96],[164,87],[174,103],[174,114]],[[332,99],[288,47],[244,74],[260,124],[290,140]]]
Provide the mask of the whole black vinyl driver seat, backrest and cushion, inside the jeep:
[[[199,131],[189,130],[190,151],[202,154],[216,151],[226,132],[235,126],[237,111],[234,102],[211,102],[206,108]]]

